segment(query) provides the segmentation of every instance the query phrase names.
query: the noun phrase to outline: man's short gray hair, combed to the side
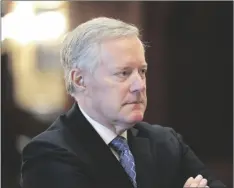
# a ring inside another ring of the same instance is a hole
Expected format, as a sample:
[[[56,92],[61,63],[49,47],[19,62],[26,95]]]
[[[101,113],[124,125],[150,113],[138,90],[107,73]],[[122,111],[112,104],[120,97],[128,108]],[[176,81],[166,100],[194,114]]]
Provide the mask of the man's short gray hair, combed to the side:
[[[60,53],[67,92],[71,95],[75,92],[70,76],[73,68],[86,68],[92,73],[100,62],[101,42],[126,36],[139,37],[138,28],[121,20],[106,17],[91,19],[69,32],[64,38]]]

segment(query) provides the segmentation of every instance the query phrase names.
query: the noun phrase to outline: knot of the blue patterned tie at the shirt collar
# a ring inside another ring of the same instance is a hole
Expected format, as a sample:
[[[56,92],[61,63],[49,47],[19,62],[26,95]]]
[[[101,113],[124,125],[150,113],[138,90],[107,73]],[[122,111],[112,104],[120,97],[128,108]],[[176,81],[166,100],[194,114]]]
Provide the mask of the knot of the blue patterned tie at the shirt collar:
[[[129,150],[127,140],[122,136],[117,136],[114,140],[111,141],[110,145],[119,154]]]

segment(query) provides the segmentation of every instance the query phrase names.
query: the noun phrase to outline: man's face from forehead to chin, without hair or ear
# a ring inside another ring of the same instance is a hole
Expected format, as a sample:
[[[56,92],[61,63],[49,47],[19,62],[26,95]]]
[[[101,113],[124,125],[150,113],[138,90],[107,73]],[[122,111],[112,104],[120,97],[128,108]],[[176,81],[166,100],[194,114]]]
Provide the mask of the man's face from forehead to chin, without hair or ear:
[[[89,75],[86,103],[103,124],[127,126],[142,121],[147,104],[147,64],[137,37],[102,44],[101,63]]]

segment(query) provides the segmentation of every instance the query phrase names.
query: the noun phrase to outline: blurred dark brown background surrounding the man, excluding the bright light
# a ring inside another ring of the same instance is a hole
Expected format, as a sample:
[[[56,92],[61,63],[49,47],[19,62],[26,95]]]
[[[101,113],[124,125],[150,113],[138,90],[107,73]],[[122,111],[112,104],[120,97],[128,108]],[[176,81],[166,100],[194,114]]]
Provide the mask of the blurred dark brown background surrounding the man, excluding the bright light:
[[[97,16],[141,28],[150,46],[145,121],[173,127],[216,176],[233,187],[233,2],[83,1],[67,2],[66,10],[68,30]],[[18,187],[19,142],[24,145],[45,130],[73,102],[63,90],[62,106],[43,118],[19,105],[11,47],[1,54],[3,188]]]

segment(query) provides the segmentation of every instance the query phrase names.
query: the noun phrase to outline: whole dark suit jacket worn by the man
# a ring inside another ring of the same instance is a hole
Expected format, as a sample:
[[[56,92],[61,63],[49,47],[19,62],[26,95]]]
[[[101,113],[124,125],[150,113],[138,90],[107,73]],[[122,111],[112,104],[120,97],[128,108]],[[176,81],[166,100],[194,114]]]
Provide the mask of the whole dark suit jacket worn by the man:
[[[128,130],[139,188],[182,188],[202,174],[225,187],[171,128],[141,122]],[[22,154],[24,188],[133,188],[119,161],[77,104],[33,138]]]

